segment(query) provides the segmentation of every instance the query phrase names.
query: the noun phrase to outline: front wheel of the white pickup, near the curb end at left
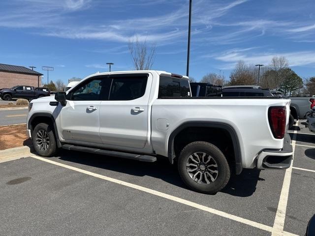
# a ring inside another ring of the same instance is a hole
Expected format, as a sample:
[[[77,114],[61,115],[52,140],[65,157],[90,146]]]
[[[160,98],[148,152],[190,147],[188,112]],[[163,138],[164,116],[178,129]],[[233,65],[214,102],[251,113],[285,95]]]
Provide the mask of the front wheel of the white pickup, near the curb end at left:
[[[53,156],[57,151],[55,134],[46,123],[39,123],[35,126],[32,142],[35,151],[40,156]]]

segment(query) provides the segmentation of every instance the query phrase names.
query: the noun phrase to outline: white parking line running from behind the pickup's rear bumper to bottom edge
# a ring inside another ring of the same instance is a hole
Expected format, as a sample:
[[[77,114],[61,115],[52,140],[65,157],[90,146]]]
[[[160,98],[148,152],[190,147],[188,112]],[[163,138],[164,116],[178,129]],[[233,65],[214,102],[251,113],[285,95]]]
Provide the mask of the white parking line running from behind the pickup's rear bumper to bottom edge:
[[[298,124],[299,124],[299,121],[296,121],[296,125]],[[293,133],[294,133],[293,139],[292,139],[293,159],[291,161],[290,167],[286,169],[285,174],[284,174],[284,183],[282,185],[279,204],[278,204],[277,213],[276,213],[276,217],[274,221],[274,226],[272,228],[271,236],[280,236],[280,235],[283,235],[283,232],[284,232],[284,220],[285,220],[287,200],[289,196],[292,165],[293,165],[293,160],[294,160],[294,150],[295,150],[295,142],[296,142],[296,134],[297,134],[296,128]]]

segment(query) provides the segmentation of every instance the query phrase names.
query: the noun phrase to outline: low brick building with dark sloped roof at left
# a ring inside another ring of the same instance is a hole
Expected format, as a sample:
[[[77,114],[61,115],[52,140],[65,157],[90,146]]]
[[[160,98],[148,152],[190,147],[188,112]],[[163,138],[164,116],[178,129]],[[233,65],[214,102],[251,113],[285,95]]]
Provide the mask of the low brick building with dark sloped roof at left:
[[[24,66],[0,63],[0,88],[12,88],[16,85],[40,87],[42,75]]]

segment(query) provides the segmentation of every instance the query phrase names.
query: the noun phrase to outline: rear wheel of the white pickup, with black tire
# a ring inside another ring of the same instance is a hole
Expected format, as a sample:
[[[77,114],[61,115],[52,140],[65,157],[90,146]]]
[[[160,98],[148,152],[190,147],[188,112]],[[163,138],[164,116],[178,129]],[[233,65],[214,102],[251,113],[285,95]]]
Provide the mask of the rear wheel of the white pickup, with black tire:
[[[181,151],[178,171],[189,188],[206,194],[219,192],[230,178],[230,168],[221,150],[201,141],[190,143]]]

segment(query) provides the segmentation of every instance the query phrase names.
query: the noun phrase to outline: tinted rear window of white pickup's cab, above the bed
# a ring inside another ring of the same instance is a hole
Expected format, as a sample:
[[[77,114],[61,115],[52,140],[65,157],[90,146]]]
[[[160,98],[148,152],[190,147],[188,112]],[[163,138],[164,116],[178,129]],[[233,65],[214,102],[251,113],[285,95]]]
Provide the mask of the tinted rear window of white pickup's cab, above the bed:
[[[190,97],[188,80],[159,77],[158,98],[161,97]]]

